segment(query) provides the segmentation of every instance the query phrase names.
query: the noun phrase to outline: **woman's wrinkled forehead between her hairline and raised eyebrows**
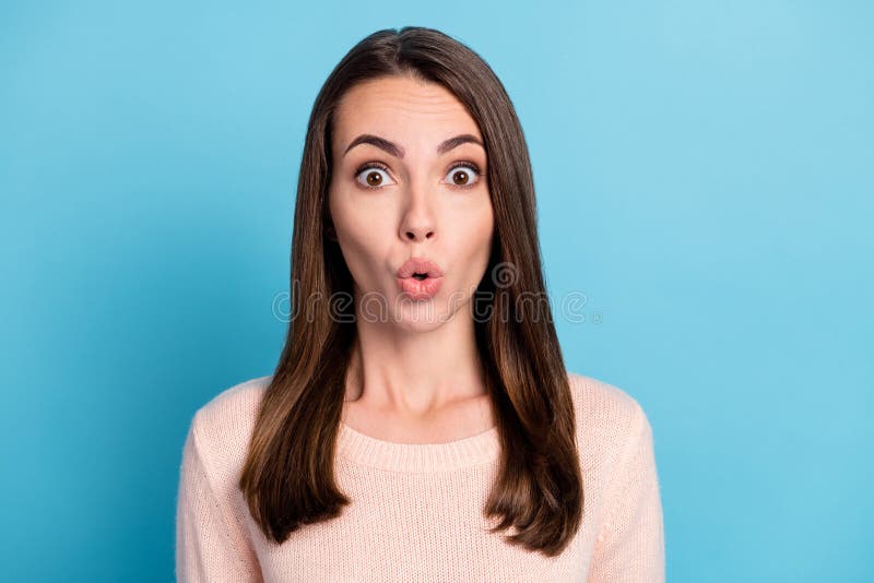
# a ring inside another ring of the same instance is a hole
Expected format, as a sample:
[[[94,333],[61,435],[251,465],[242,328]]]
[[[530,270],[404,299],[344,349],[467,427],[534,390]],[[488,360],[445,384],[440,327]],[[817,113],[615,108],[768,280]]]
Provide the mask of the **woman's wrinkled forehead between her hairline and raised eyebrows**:
[[[482,140],[476,121],[450,91],[404,76],[366,81],[343,95],[335,111],[334,145],[342,146],[361,133],[413,147],[415,142],[424,142],[432,148],[434,142],[459,133]]]

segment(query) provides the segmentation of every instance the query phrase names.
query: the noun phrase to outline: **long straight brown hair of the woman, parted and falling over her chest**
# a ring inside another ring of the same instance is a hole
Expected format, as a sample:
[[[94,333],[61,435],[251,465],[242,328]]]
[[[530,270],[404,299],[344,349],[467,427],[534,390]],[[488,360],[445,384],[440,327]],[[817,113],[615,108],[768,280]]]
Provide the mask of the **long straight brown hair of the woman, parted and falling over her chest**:
[[[492,277],[483,277],[474,301],[482,306],[485,298],[489,317],[477,319],[475,333],[501,445],[483,512],[499,519],[491,532],[517,530],[507,543],[558,555],[582,521],[582,476],[569,381],[548,301],[543,301],[528,146],[512,103],[488,64],[432,28],[370,34],[343,57],[316,97],[294,213],[293,317],[239,486],[253,520],[276,543],[302,525],[339,516],[351,503],[338,488],[333,466],[356,328],[352,277],[328,236],[331,124],[344,92],[387,75],[442,85],[482,132],[496,230],[486,271]]]

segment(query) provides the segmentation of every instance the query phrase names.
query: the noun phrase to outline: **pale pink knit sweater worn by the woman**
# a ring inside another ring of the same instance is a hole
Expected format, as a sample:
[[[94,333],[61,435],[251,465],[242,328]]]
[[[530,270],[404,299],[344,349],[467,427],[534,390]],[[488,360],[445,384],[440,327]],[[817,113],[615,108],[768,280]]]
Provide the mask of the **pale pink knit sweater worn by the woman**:
[[[482,513],[500,453],[496,427],[423,444],[382,441],[341,423],[335,476],[352,504],[281,545],[268,540],[238,487],[270,381],[261,377],[221,392],[191,420],[176,507],[177,580],[663,582],[647,416],[621,389],[574,372],[568,379],[584,502],[581,527],[560,555],[545,557],[487,532],[496,524]]]

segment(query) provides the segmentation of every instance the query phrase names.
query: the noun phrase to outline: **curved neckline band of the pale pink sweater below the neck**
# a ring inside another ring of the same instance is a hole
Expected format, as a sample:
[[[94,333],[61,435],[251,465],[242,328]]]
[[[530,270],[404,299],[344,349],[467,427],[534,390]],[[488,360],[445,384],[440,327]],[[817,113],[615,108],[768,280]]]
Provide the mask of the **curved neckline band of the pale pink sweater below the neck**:
[[[353,429],[342,420],[338,450],[359,465],[405,473],[440,472],[482,465],[500,451],[497,426],[441,443],[400,443],[377,439]]]

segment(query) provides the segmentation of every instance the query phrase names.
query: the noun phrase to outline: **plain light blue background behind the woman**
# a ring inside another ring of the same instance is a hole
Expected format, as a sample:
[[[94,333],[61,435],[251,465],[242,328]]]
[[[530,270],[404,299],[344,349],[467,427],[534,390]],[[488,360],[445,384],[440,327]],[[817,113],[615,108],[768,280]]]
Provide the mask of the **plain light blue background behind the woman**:
[[[193,412],[269,374],[312,100],[439,28],[505,83],[568,368],[653,427],[672,582],[872,581],[870,2],[4,3],[9,581],[169,581]]]

